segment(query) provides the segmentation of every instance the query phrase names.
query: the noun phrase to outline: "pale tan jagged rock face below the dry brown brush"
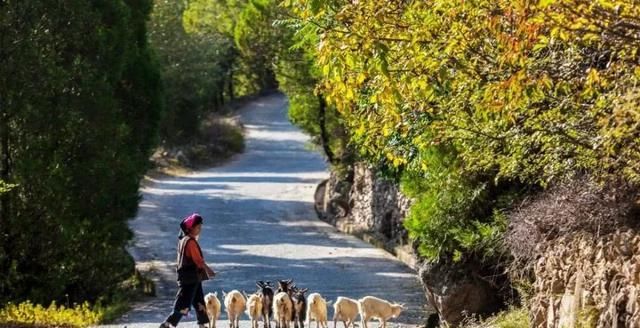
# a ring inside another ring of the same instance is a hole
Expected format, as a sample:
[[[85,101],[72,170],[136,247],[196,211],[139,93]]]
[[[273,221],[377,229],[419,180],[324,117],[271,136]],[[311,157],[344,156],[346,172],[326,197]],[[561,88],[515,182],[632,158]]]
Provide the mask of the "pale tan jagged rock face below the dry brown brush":
[[[640,327],[640,234],[563,236],[539,252],[534,327]]]

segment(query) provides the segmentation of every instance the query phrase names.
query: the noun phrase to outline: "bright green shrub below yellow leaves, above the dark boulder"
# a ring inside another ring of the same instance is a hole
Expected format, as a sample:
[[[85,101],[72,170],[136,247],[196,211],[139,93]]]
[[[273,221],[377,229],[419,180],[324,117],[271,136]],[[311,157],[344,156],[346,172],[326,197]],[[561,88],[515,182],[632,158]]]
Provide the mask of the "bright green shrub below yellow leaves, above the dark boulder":
[[[401,178],[402,191],[415,199],[404,224],[420,255],[431,261],[498,256],[507,225],[503,207],[517,193],[463,176],[451,151],[433,149],[427,156],[431,165],[426,174]]]

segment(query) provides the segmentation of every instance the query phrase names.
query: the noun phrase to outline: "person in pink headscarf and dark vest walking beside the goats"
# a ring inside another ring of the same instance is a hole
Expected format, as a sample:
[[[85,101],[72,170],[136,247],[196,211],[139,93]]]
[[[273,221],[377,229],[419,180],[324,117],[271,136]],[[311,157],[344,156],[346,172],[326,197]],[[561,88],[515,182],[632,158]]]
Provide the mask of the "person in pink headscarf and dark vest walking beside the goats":
[[[193,213],[180,222],[178,236],[178,293],[173,303],[173,312],[160,324],[160,328],[172,328],[189,312],[191,306],[196,311],[198,327],[209,323],[207,316],[202,281],[215,276],[215,272],[205,263],[198,238],[202,230],[203,219]]]

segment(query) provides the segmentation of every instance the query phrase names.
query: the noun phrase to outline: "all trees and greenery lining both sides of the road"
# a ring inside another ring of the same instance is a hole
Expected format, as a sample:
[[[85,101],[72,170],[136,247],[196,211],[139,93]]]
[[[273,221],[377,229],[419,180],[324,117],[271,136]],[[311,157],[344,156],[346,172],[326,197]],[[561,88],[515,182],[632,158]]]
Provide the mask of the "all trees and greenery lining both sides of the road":
[[[513,295],[531,279],[506,270],[525,256],[505,242],[515,208],[575,181],[638,191],[636,17],[627,0],[0,1],[0,302],[114,303],[152,154],[242,151],[229,108],[277,89],[335,172],[367,162],[415,200],[423,260],[500,272]],[[604,222],[580,220],[549,233]]]

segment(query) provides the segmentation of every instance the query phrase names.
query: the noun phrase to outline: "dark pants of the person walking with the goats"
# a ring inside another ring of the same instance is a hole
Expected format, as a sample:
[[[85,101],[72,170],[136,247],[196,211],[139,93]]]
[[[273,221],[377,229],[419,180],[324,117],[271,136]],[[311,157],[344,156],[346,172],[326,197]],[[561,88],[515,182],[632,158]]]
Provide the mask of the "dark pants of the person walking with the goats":
[[[196,311],[196,318],[198,324],[206,324],[209,322],[209,317],[204,305],[204,293],[202,291],[202,283],[185,284],[178,287],[178,294],[176,295],[176,301],[173,303],[173,313],[171,313],[166,322],[177,326],[182,316],[187,314],[189,308],[193,305]]]

